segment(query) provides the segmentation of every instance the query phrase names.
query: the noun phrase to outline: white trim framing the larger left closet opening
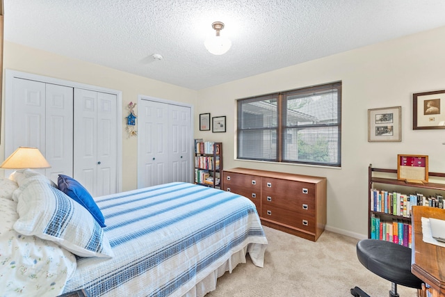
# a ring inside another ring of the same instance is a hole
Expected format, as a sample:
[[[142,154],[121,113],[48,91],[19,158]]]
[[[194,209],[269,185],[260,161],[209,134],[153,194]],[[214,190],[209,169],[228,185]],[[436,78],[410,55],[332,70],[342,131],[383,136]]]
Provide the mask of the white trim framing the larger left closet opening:
[[[102,93],[108,93],[116,95],[118,99],[118,106],[117,106],[117,115],[116,115],[116,121],[118,122],[118,160],[117,160],[117,168],[116,168],[116,175],[118,178],[118,193],[122,192],[122,91],[120,90],[113,90],[110,88],[102,88],[99,86],[92,86],[88,85],[86,83],[78,83],[75,81],[65,81],[64,79],[56,79],[54,77],[44,77],[42,75],[38,74],[31,74],[26,72],[19,72],[16,70],[9,70],[6,69],[6,75],[5,75],[5,128],[12,126],[12,117],[6,113],[6,111],[9,111],[11,109],[11,99],[13,98],[13,78],[19,78],[19,79],[28,79],[31,81],[40,81],[43,83],[52,83],[55,85],[60,86],[68,86],[72,88],[82,88],[86,90],[93,90],[97,92]],[[5,159],[6,159],[6,152],[13,152],[14,148],[10,147],[9,144],[13,143],[12,140],[12,133],[9,133],[10,139],[6,139],[6,129],[5,129]]]

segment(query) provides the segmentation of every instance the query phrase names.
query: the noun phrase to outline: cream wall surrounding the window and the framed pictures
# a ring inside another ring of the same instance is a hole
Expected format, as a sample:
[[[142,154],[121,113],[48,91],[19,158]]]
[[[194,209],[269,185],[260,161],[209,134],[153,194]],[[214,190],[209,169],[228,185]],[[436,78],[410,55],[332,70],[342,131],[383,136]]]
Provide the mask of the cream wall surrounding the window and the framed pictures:
[[[397,168],[397,154],[426,154],[432,172],[445,172],[445,130],[412,130],[412,94],[445,90],[445,27],[316,61],[232,81],[198,94],[195,113],[227,116],[227,133],[195,137],[224,143],[224,167],[245,167],[327,177],[327,229],[367,236],[367,173]],[[298,50],[298,45],[296,45]],[[236,99],[343,81],[342,166],[319,168],[236,161]],[[402,141],[368,142],[368,109],[402,106]]]

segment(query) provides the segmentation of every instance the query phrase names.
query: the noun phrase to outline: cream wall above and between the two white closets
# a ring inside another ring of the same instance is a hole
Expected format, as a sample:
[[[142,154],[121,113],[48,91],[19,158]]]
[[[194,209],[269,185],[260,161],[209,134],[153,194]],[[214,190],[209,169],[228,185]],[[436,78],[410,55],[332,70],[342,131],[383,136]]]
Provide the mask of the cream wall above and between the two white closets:
[[[5,42],[4,44],[3,67],[10,70],[120,90],[122,91],[121,120],[123,123],[125,123],[125,117],[129,115],[127,105],[129,102],[138,102],[138,95],[148,95],[191,105],[196,103],[197,92],[195,90],[181,88],[169,83],[155,81],[154,79],[146,79],[145,77],[139,77],[127,72],[58,56],[47,51],[40,51],[11,42]],[[3,86],[5,86],[4,75]],[[135,109],[136,113],[137,109],[138,106]],[[3,159],[4,156],[4,115],[7,112],[4,110],[3,103],[0,159]],[[137,143],[136,137],[128,138],[126,131],[122,131],[123,191],[136,188]],[[3,175],[3,172],[0,172],[0,174]]]

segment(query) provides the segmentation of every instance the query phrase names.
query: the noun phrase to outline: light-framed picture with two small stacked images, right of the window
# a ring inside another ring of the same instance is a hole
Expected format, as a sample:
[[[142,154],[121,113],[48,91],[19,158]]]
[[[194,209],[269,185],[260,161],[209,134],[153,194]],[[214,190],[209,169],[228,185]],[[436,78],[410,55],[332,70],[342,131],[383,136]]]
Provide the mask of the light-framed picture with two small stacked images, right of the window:
[[[368,141],[402,141],[401,109],[368,109]]]

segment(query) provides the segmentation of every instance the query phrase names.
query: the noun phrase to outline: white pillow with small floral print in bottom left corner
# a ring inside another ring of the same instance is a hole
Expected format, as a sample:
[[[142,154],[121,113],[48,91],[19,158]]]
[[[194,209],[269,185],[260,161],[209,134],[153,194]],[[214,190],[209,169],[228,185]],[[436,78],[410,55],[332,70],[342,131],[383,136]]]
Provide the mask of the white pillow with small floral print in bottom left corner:
[[[17,203],[0,198],[1,296],[56,296],[76,270],[76,257],[56,243],[13,230]]]

